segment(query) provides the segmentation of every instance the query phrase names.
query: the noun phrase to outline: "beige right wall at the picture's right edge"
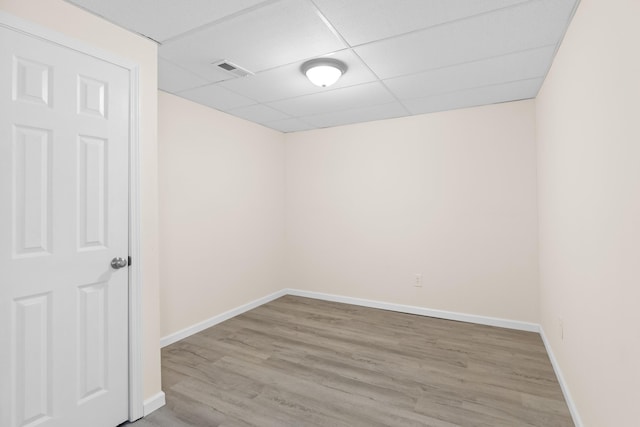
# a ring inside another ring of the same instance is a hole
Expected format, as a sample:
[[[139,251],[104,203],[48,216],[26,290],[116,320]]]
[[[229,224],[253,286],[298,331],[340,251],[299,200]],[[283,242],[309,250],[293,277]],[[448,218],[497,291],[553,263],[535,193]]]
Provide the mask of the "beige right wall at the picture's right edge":
[[[536,101],[542,326],[589,427],[640,422],[638,17],[582,0]]]

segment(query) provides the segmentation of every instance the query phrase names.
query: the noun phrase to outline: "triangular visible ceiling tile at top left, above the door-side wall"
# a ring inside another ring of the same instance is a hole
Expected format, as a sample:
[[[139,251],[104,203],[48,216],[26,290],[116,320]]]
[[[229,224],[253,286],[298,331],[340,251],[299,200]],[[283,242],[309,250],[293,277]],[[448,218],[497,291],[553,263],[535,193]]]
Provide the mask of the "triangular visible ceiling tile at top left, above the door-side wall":
[[[68,0],[162,42],[265,0]]]

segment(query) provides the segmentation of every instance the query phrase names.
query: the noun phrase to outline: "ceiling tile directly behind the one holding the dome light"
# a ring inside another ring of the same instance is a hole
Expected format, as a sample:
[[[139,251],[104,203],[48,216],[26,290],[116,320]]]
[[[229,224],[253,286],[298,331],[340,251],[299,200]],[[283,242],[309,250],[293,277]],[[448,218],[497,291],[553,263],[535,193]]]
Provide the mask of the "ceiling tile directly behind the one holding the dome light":
[[[271,102],[268,105],[291,116],[301,117],[392,101],[395,98],[381,83],[372,82]]]

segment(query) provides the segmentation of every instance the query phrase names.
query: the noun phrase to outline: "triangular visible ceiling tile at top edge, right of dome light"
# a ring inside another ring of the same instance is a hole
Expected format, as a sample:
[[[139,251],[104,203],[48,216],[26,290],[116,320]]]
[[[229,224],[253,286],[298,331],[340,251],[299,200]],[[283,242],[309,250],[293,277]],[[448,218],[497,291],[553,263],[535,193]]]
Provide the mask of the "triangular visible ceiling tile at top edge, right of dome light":
[[[351,46],[433,27],[527,0],[314,0]]]

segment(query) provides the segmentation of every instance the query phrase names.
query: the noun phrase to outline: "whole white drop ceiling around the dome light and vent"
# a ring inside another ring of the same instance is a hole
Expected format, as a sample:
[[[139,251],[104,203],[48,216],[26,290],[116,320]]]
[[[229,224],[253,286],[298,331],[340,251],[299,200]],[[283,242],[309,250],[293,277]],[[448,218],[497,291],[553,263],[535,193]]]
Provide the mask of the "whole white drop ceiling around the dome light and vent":
[[[579,0],[68,1],[157,41],[161,90],[295,132],[534,98]]]

